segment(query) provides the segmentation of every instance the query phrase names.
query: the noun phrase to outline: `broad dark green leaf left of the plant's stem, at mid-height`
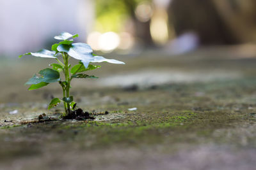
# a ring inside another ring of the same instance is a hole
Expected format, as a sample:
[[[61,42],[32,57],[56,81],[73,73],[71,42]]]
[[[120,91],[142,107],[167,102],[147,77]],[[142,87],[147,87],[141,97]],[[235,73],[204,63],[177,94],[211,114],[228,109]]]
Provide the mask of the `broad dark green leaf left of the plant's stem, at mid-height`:
[[[54,83],[60,81],[60,73],[54,69],[42,69],[38,74],[35,74],[26,85],[36,85],[38,83]]]

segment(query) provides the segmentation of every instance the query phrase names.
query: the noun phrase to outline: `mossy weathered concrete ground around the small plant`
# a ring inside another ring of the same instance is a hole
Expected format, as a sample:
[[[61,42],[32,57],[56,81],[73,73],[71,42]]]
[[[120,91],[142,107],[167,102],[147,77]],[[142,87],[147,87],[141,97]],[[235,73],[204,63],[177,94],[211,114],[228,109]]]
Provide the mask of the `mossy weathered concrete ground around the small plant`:
[[[126,65],[100,64],[91,73],[99,80],[72,82],[77,106],[95,120],[40,123],[42,113],[60,116],[47,104],[61,90],[24,83],[54,61],[0,59],[0,169],[255,169],[250,46],[112,55]]]

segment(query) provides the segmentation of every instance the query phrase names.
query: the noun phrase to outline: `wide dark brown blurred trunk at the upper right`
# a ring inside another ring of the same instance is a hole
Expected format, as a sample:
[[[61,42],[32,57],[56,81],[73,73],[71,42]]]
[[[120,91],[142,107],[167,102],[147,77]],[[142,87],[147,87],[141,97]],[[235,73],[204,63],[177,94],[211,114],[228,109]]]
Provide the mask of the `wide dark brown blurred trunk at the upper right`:
[[[202,45],[238,43],[211,0],[173,0],[168,12],[177,36],[192,31]]]

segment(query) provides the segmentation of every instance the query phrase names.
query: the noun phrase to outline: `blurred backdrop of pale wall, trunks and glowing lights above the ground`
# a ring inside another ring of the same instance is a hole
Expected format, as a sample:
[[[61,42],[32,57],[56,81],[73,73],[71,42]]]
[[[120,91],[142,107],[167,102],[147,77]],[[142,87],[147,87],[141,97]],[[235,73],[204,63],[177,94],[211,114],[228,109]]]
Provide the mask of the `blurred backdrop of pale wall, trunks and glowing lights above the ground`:
[[[104,53],[255,43],[253,0],[0,1],[1,56],[35,51],[61,31]]]

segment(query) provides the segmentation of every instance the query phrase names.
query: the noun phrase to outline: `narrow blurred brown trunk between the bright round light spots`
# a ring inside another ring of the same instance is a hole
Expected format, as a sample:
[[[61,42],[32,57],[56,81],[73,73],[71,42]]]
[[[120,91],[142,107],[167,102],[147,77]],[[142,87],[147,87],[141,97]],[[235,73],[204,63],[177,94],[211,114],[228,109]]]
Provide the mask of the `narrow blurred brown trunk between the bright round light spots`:
[[[127,9],[129,11],[129,15],[131,16],[132,22],[134,23],[134,33],[137,38],[140,39],[140,42],[145,46],[154,46],[154,42],[152,41],[152,37],[150,34],[150,20],[147,22],[140,22],[138,18],[136,18],[135,10],[137,6],[137,1],[135,0],[123,0]]]

